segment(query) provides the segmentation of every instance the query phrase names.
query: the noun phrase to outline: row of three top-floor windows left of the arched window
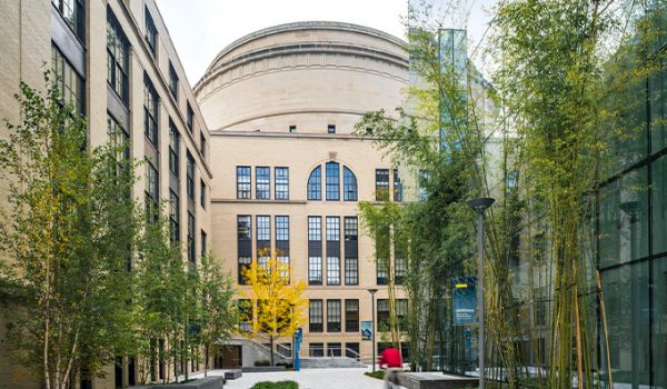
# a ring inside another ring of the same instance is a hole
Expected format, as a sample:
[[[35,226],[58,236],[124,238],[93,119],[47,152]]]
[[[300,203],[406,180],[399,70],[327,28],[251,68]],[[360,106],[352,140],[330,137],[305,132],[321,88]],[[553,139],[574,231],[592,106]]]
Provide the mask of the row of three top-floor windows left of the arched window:
[[[276,167],[275,199],[289,200],[289,168]],[[271,168],[255,168],[255,198],[258,200],[271,199]],[[252,198],[252,168],[249,166],[237,167],[237,199]]]

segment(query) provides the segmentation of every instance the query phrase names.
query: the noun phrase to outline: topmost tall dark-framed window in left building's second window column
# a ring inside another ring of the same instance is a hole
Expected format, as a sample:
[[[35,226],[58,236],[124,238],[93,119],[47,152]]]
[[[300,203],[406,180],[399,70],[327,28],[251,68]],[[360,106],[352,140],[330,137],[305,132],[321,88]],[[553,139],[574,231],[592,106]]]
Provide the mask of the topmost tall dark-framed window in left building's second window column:
[[[110,9],[107,11],[107,82],[118,94],[120,100],[128,104],[128,61],[129,43],[122,32],[118,20]]]

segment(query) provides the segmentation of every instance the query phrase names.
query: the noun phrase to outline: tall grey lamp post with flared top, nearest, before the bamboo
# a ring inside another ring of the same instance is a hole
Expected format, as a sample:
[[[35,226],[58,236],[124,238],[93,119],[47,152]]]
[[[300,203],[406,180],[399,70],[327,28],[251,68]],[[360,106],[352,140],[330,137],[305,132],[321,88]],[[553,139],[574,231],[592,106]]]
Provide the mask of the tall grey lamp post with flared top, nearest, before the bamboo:
[[[485,333],[484,333],[484,211],[489,208],[495,199],[481,197],[468,201],[468,206],[477,212],[477,309],[479,310],[479,339],[477,341],[477,357],[479,359],[479,389],[484,389],[485,380]]]

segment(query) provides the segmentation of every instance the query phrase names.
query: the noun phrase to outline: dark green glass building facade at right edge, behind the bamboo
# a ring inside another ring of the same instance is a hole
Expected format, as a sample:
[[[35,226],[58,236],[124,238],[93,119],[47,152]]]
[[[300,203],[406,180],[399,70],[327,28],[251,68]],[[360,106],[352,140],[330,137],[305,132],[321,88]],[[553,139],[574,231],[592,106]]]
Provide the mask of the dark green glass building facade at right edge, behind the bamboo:
[[[666,29],[664,8],[649,18]],[[658,37],[648,57],[658,67],[629,86],[638,103],[598,191],[599,369],[614,387],[667,388],[667,39]]]

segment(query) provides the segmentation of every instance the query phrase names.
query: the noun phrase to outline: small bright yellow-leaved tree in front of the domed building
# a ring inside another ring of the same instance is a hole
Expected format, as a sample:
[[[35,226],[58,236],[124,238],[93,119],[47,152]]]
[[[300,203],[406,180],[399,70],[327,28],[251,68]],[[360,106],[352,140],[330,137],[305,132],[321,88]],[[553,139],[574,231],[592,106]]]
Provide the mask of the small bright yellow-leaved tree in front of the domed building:
[[[306,283],[290,279],[289,262],[277,252],[265,249],[242,272],[250,287],[246,297],[250,303],[247,311],[251,312],[251,317],[241,320],[252,321],[250,337],[263,333],[269,338],[273,366],[275,341],[291,336],[301,321],[301,309],[306,301],[301,295]]]

